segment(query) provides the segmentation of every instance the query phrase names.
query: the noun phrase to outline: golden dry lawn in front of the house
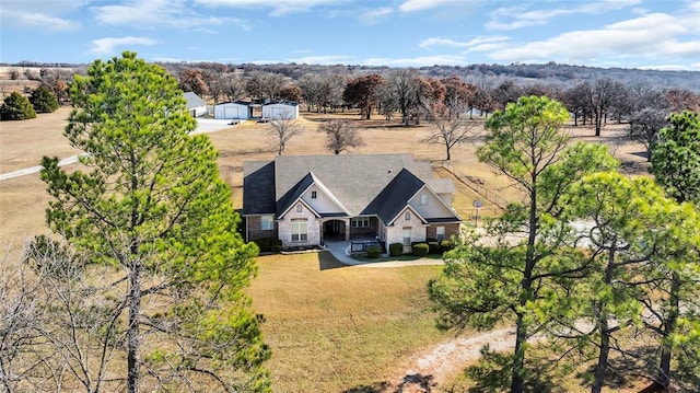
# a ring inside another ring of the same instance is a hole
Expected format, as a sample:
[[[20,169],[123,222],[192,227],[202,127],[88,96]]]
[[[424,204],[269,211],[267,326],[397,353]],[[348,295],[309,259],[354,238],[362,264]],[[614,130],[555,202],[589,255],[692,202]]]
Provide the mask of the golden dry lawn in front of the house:
[[[440,266],[320,270],[326,252],[259,258],[247,292],[265,314],[276,392],[376,392],[393,365],[445,339],[425,284]]]

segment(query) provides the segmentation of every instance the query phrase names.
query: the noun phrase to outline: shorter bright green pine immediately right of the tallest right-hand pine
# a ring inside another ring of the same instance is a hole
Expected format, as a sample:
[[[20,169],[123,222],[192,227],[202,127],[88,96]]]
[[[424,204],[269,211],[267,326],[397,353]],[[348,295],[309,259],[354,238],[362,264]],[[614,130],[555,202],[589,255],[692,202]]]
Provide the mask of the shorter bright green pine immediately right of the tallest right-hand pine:
[[[617,338],[642,325],[646,282],[656,276],[645,273],[660,269],[660,251],[668,243],[663,228],[674,224],[664,213],[675,203],[650,178],[600,172],[574,184],[563,204],[568,220],[586,222],[575,246],[588,250],[582,255],[588,274],[572,280],[562,300],[568,312],[557,317],[555,331],[578,347],[574,352],[597,360],[591,392],[599,393],[611,355],[631,349],[620,348]]]

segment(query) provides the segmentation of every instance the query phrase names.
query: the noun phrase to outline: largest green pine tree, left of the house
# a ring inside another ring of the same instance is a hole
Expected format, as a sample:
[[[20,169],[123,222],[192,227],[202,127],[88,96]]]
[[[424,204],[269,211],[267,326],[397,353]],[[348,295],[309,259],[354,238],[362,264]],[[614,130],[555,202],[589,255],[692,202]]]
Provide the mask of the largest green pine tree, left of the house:
[[[115,319],[104,333],[124,336],[125,363],[113,367],[128,392],[269,391],[270,352],[243,292],[257,248],[236,232],[217,151],[189,135],[196,123],[177,81],[127,51],[94,61],[70,95],[65,135],[89,170],[43,159],[47,221],[91,264],[112,268],[114,280],[91,279],[112,282]]]

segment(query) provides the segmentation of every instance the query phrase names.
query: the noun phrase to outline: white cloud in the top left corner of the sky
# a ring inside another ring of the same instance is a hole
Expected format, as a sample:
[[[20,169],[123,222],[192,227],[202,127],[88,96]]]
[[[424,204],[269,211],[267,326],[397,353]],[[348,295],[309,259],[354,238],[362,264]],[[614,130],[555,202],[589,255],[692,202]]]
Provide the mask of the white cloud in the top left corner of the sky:
[[[79,11],[88,1],[54,0],[27,1],[4,0],[0,12],[2,26],[36,28],[49,31],[69,31],[80,27],[78,21],[66,18]]]

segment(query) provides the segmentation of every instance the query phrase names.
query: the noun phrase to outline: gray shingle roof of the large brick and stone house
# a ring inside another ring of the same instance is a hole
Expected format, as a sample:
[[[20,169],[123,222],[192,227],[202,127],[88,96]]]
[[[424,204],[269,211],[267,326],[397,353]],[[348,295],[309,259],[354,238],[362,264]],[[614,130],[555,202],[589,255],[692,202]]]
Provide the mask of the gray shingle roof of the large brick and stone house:
[[[243,213],[281,215],[315,181],[351,217],[377,215],[385,223],[425,184],[435,184],[436,193],[454,190],[448,180],[432,178],[430,163],[410,154],[280,155],[244,163]]]

